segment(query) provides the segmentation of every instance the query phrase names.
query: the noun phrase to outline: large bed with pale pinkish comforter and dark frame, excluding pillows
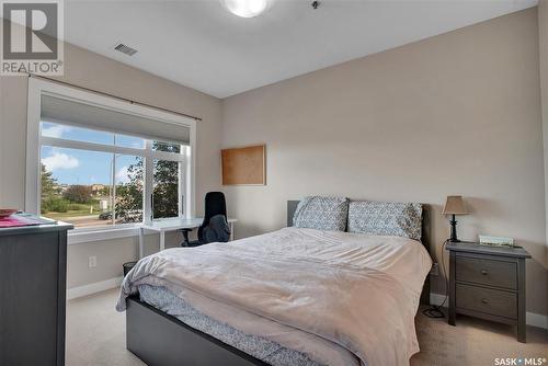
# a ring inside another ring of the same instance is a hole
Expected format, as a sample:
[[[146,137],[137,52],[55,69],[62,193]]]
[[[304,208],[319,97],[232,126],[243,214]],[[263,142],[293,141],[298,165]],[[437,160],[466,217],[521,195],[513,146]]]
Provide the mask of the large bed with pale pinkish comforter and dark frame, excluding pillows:
[[[127,348],[148,365],[408,364],[429,294],[427,206],[416,242],[292,228],[297,204],[285,229],[137,265],[117,305]]]

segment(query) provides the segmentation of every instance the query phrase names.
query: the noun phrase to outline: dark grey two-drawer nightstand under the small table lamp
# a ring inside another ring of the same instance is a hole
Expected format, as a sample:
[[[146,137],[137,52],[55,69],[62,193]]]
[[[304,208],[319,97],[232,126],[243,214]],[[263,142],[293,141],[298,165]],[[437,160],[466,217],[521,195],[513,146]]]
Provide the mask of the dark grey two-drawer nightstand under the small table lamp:
[[[448,242],[449,324],[457,313],[517,325],[525,343],[525,260],[523,248]]]

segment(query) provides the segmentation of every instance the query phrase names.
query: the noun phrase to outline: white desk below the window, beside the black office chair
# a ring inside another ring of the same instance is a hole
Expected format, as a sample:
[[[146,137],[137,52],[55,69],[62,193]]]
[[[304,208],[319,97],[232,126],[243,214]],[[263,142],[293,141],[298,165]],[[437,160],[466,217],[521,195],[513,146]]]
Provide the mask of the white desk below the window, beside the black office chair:
[[[165,249],[165,232],[176,231],[181,229],[196,229],[204,221],[203,217],[190,218],[169,218],[164,220],[152,221],[151,224],[144,224],[139,229],[139,259],[142,258],[145,252],[145,233],[158,232],[160,233],[160,251]],[[235,222],[237,219],[229,218],[228,225],[230,226],[230,240],[235,238]]]

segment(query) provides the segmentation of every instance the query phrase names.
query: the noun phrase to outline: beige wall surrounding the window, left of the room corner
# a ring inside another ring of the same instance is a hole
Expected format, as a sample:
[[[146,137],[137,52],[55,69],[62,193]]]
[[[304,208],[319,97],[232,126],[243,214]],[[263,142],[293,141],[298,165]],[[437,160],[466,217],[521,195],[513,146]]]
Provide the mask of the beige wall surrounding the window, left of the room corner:
[[[219,187],[221,105],[216,98],[179,85],[72,45],[65,46],[64,81],[203,118],[197,124],[196,209],[207,191]],[[27,78],[0,78],[0,206],[24,208]],[[122,275],[136,258],[137,239],[69,245],[68,287]],[[168,240],[168,245],[180,239]],[[148,239],[149,245],[158,242]],[[88,268],[96,255],[98,266]]]

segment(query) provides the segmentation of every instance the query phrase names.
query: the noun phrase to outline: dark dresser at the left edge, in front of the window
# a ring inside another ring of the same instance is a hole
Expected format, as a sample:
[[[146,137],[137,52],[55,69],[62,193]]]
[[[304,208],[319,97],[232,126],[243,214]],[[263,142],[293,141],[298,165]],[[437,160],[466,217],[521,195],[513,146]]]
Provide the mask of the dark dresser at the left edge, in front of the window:
[[[65,365],[67,230],[0,229],[0,365]]]

